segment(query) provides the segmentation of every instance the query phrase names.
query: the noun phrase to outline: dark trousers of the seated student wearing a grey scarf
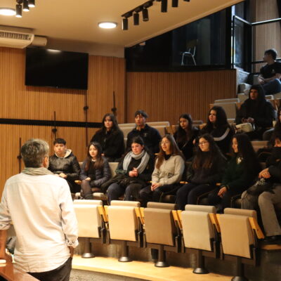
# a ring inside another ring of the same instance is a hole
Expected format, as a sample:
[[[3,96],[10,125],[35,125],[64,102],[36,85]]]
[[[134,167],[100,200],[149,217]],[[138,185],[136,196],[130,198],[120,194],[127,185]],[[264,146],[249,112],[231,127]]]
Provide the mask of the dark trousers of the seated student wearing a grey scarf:
[[[138,193],[143,185],[141,183],[130,183],[126,187],[118,183],[112,183],[107,189],[107,200],[118,200],[118,198],[125,194],[126,201],[134,201],[138,199]]]

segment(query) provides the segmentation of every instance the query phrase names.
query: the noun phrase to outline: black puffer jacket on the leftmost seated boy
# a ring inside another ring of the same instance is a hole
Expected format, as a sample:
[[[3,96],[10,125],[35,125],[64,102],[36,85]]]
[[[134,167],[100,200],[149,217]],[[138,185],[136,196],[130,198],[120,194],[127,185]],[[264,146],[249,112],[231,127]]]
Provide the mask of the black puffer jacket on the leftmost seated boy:
[[[76,181],[79,179],[80,165],[76,156],[72,154],[71,150],[66,151],[65,157],[58,157],[52,155],[49,159],[48,169],[53,174],[66,174],[67,181]]]

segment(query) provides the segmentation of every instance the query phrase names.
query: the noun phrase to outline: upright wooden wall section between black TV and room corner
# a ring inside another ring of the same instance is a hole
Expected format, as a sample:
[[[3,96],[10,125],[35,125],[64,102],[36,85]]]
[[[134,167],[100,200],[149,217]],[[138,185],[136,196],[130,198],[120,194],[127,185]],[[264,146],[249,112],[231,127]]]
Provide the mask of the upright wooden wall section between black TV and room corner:
[[[113,107],[113,91],[117,119],[124,122],[125,60],[90,56],[89,60],[89,122],[101,122]]]

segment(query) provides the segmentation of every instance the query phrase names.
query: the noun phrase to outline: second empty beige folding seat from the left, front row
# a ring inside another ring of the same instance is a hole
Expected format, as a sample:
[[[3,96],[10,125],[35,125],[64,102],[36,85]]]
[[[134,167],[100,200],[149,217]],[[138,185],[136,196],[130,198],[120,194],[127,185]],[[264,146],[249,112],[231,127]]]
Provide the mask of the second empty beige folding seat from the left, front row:
[[[113,200],[107,207],[110,243],[121,244],[122,254],[118,261],[131,261],[129,246],[141,247],[143,234],[136,216],[140,202]]]

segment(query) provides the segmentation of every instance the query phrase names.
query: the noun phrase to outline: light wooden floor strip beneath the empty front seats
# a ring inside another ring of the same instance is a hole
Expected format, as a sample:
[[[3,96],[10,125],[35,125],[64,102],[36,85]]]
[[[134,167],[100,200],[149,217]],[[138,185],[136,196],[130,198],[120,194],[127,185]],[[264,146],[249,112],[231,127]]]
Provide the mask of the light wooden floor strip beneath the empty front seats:
[[[105,257],[82,259],[81,256],[74,256],[72,268],[153,281],[230,281],[232,278],[214,273],[198,275],[192,273],[192,268],[174,266],[156,268],[152,262],[131,261],[129,263],[120,263],[117,259]]]

